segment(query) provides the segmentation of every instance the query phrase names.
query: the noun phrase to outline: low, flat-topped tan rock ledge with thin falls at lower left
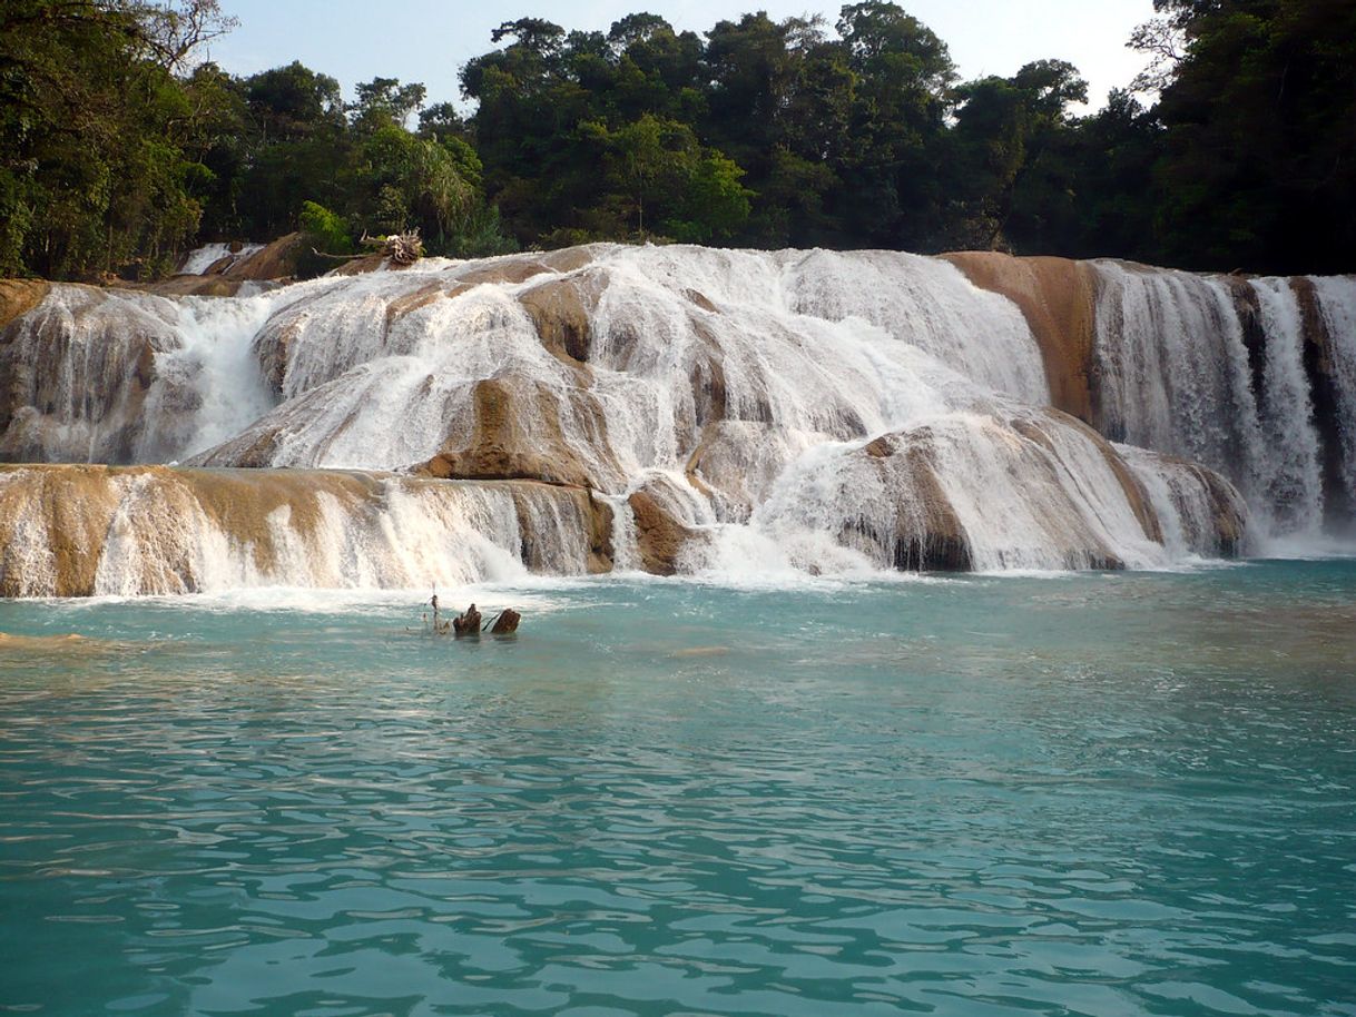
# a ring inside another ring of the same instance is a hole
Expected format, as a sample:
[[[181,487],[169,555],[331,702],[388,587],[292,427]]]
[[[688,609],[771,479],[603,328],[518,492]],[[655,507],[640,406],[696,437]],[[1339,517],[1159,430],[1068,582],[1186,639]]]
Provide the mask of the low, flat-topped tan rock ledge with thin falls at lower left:
[[[589,492],[338,471],[0,466],[0,597],[419,587],[610,565]]]

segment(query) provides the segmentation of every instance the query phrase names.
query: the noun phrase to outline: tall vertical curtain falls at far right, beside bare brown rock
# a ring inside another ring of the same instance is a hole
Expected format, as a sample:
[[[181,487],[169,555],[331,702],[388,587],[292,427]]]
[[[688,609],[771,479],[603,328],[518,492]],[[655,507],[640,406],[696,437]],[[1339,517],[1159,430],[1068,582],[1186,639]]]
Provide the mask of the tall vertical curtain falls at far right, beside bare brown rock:
[[[1264,542],[1317,538],[1325,523],[1321,441],[1291,281],[1094,264],[1105,433],[1226,473],[1246,498]],[[1356,300],[1356,281],[1314,285],[1329,319],[1340,419],[1349,422],[1356,374],[1344,373],[1342,357],[1356,324],[1344,320],[1344,308]]]

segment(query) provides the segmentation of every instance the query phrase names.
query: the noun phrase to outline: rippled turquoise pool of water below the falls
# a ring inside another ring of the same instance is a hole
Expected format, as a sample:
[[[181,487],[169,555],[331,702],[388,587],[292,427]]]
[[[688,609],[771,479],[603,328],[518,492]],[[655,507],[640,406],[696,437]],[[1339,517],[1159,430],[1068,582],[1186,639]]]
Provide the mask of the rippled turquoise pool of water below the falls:
[[[0,1009],[1356,1014],[1356,564],[476,597],[0,605]]]

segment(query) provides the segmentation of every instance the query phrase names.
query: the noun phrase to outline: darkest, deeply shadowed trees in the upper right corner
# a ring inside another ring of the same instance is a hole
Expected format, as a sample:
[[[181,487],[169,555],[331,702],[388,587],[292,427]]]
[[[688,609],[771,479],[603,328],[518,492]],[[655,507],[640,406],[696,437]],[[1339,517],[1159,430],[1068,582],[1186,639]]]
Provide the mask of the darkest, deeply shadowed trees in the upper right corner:
[[[1356,245],[1356,5],[1155,0],[1185,52],[1157,107],[1166,260],[1345,271]]]

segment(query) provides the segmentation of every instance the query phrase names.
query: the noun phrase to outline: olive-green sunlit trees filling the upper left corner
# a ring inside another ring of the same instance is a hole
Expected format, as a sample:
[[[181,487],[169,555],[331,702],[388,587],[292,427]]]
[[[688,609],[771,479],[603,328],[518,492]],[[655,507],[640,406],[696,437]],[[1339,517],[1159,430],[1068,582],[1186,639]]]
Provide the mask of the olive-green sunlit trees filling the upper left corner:
[[[213,3],[0,7],[0,271],[151,273],[197,229],[214,118],[172,72]]]

